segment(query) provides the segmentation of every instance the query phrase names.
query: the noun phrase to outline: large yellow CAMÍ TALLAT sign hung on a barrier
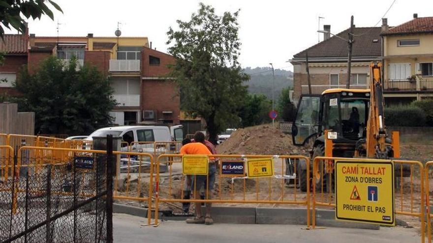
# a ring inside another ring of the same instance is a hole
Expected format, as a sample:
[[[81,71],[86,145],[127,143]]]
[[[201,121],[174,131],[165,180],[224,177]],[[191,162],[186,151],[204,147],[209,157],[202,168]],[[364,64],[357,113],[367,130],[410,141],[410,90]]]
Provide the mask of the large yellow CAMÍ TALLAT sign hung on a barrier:
[[[336,218],[395,225],[393,162],[335,162]]]

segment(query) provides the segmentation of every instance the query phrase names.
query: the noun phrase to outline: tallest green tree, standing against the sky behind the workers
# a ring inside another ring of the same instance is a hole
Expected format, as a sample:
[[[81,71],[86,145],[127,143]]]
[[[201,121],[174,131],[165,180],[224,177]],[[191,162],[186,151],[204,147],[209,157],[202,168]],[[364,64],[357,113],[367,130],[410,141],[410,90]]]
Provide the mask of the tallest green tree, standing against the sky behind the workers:
[[[248,80],[238,62],[239,11],[215,13],[200,3],[191,20],[178,20],[178,30],[169,28],[168,52],[176,57],[171,77],[180,88],[181,108],[206,121],[211,140],[230,124],[239,122]]]

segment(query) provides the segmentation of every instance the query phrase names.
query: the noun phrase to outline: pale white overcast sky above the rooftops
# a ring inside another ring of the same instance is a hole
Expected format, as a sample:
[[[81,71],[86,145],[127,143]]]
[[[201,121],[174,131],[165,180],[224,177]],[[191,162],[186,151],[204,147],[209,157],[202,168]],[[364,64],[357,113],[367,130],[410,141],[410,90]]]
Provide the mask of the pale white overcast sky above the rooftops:
[[[165,52],[168,27],[176,20],[189,20],[200,0],[55,0],[64,14],[55,11],[55,21],[48,17],[29,22],[36,36],[114,36],[121,22],[122,36],[147,36],[153,47]],[[372,27],[381,19],[393,0],[202,0],[216,12],[236,11],[239,15],[242,42],[240,62],[243,67],[293,70],[287,62],[294,54],[318,42],[318,17],[331,25],[331,32],[348,28],[354,15],[356,27]],[[52,8],[54,9],[54,8]],[[433,16],[432,0],[396,0],[386,14],[388,25],[396,26],[419,17]],[[381,21],[377,26],[381,26]],[[8,31],[16,33],[16,31]],[[320,34],[320,40],[323,40]]]

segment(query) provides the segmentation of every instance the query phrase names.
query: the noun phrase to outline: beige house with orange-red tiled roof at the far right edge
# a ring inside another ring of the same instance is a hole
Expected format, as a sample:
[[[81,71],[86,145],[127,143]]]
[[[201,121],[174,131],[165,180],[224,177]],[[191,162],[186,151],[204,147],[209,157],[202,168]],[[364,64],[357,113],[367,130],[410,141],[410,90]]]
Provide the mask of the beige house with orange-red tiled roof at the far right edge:
[[[388,104],[433,97],[433,17],[382,24],[384,95]]]

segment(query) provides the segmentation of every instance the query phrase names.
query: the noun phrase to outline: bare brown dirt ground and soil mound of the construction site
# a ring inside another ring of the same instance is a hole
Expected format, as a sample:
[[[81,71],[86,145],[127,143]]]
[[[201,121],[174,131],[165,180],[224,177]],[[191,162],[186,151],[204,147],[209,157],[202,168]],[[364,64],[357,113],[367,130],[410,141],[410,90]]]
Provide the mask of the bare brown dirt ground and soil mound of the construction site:
[[[401,140],[401,154],[402,158],[409,160],[421,161],[423,163],[433,160],[432,149],[433,143],[427,139],[416,139],[412,136],[402,135]],[[308,153],[310,148],[298,147],[292,145],[291,135],[286,135],[280,132],[277,128],[273,128],[272,125],[261,125],[250,127],[246,129],[238,129],[234,132],[231,137],[224,141],[221,145],[217,146],[217,152],[219,154],[250,154],[250,155],[288,155],[288,154],[305,154]],[[282,160],[279,159],[275,165],[275,174],[281,174]],[[399,189],[396,190],[395,205],[397,210],[405,212],[419,212],[420,210],[420,178],[419,171],[414,167],[414,176],[412,179],[403,179],[403,193]],[[149,174],[142,175],[142,182],[148,181],[146,177]],[[136,174],[131,173],[129,180],[126,179],[123,173],[118,181],[118,194],[120,195],[137,195]],[[171,178],[171,180],[169,179]],[[129,183],[128,183],[129,181]],[[216,179],[215,190],[212,197],[216,199],[234,199],[243,200],[244,198],[250,200],[306,200],[306,193],[301,192],[299,185],[295,186],[295,182],[287,185],[282,179],[277,178],[262,178],[258,180],[252,179],[236,179],[231,183],[229,178]],[[160,197],[164,198],[181,198],[182,194],[182,166],[181,163],[175,162],[172,165],[171,172],[160,173],[159,182],[159,194]],[[298,184],[298,183],[297,183]],[[257,186],[258,185],[258,186]],[[412,185],[412,186],[411,186]],[[245,187],[245,192],[244,192]],[[258,189],[257,189],[258,188]],[[433,180],[431,180],[430,188],[433,188]],[[146,195],[149,189],[147,183],[142,183],[141,193]],[[410,195],[412,191],[412,196]],[[318,201],[323,202],[334,202],[334,195],[328,193],[317,192]],[[117,203],[123,203],[133,206],[146,207],[145,202],[136,201],[124,201],[118,200]],[[246,204],[246,203],[226,203],[217,204],[218,206],[229,206],[229,207],[305,207],[304,205],[287,205],[287,204]],[[161,210],[171,210],[174,213],[182,212],[181,203],[162,203],[160,204]],[[191,207],[192,209],[192,207]],[[326,209],[326,207],[324,207]],[[332,209],[332,208],[328,208]],[[420,232],[420,223],[418,217],[412,216],[396,216],[399,220],[399,224],[403,227],[415,228],[418,233]]]

